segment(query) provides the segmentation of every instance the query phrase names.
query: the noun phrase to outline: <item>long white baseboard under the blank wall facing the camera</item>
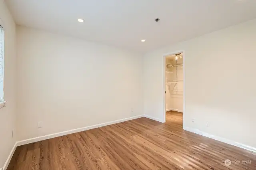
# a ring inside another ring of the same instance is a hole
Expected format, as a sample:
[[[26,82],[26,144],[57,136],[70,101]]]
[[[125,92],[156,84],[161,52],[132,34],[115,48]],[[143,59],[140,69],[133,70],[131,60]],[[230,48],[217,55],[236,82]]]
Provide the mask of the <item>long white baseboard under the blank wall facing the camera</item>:
[[[57,132],[57,133],[53,133],[53,134],[47,134],[47,135],[44,135],[44,136],[39,136],[39,137],[36,137],[36,138],[21,140],[21,141],[17,142],[17,146],[28,144],[28,143],[33,143],[33,142],[38,142],[38,141],[46,140],[46,139],[50,139],[50,138],[55,138],[55,137],[59,137],[59,136],[67,135],[67,134],[72,134],[72,133],[76,133],[76,132],[82,132],[84,130],[89,130],[89,129],[93,129],[93,128],[104,127],[104,126],[107,126],[107,125],[112,125],[112,124],[116,124],[116,123],[120,123],[120,122],[124,122],[124,121],[130,121],[132,119],[138,119],[138,118],[141,118],[143,116],[144,115],[138,115],[138,116],[134,116],[134,117],[119,119],[119,120],[116,120],[116,121],[100,123],[98,125],[76,128],[76,129],[72,129],[72,130],[66,130],[64,132]]]

